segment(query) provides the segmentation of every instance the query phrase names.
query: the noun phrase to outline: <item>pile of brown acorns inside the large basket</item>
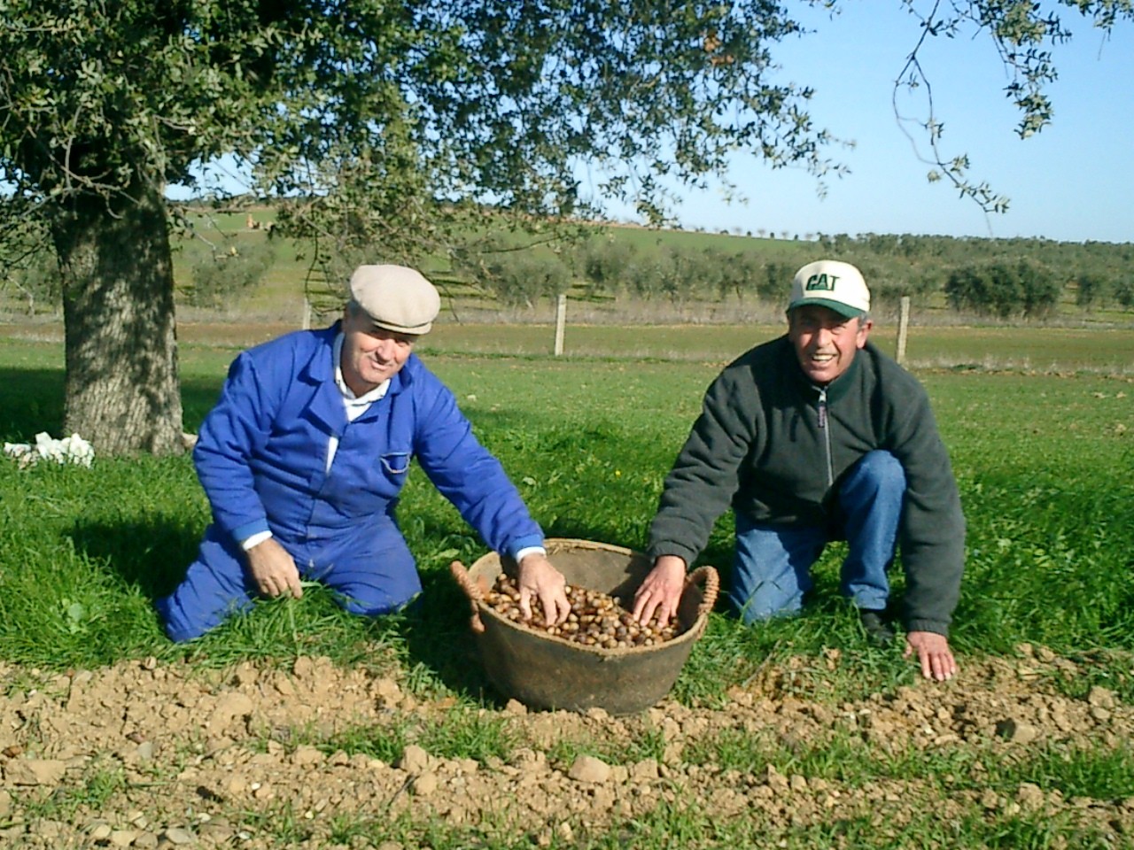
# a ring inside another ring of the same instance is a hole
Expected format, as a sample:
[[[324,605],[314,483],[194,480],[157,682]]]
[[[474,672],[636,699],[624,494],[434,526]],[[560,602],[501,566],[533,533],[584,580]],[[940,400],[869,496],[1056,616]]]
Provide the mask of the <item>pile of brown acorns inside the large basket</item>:
[[[620,601],[600,590],[567,586],[570,613],[567,621],[548,626],[540,601],[532,598],[532,619],[524,620],[519,610],[519,589],[511,577],[501,572],[484,602],[500,617],[545,635],[555,635],[584,646],[619,649],[636,646],[655,646],[672,640],[679,634],[677,621],[667,623],[651,620],[640,623]]]

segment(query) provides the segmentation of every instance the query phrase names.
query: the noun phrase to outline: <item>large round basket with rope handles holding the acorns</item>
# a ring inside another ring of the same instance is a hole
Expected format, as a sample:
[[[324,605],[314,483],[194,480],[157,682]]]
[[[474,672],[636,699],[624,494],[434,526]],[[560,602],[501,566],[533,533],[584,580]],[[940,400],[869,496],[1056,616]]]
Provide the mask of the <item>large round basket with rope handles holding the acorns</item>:
[[[550,538],[544,545],[569,585],[624,601],[633,598],[653,566],[641,552],[604,543]],[[472,627],[489,679],[502,696],[531,708],[633,714],[654,705],[677,681],[704,631],[719,587],[717,570],[697,568],[686,579],[678,606],[680,635],[653,646],[604,649],[545,635],[498,614],[484,594],[506,566],[515,575],[514,564],[501,563],[500,555],[490,552],[467,571],[454,561],[450,571],[473,605]]]

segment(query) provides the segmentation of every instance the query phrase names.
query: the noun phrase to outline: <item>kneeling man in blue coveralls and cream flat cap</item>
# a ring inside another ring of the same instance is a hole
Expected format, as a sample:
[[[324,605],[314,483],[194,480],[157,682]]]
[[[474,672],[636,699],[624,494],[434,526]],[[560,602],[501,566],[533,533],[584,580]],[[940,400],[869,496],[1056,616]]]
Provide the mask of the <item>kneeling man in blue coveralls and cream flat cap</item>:
[[[570,604],[543,532],[413,354],[440,309],[437,289],[399,265],[362,265],[349,289],[340,322],[257,346],[229,368],[193,452],[213,521],[184,581],[156,603],[166,632],[198,637],[255,596],[302,596],[302,579],[353,613],[404,606],[422,589],[395,519],[413,458],[518,564],[525,615],[538,598],[562,622]]]

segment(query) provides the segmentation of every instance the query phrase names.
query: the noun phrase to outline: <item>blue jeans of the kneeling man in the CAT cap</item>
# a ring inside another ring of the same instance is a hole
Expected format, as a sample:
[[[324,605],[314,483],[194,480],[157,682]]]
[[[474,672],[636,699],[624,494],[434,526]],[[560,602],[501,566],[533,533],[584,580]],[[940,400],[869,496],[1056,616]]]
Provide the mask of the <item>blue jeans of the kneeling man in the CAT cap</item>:
[[[871,451],[838,483],[833,528],[784,527],[736,517],[736,555],[728,590],[746,623],[799,610],[811,589],[811,567],[829,541],[849,545],[839,590],[864,610],[881,611],[890,595],[898,520],[906,493],[902,464]]]

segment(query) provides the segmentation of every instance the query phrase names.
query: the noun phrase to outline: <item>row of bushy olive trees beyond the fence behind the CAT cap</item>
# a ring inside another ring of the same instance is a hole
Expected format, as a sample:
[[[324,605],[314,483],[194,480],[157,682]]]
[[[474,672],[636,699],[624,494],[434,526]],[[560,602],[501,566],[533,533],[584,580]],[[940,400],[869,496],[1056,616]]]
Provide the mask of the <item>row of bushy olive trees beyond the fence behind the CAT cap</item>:
[[[896,237],[897,238],[897,237]],[[992,241],[992,240],[985,240]],[[799,252],[756,254],[716,247],[682,248],[657,245],[640,249],[615,239],[593,239],[576,250],[538,256],[531,250],[496,250],[465,262],[466,280],[475,281],[508,306],[533,305],[573,290],[576,297],[602,300],[634,298],[663,300],[671,305],[693,301],[780,304],[787,297],[795,269],[819,256],[839,256],[856,263],[871,283],[878,307],[895,306],[909,297],[926,304],[941,294],[958,312],[1000,318],[1048,318],[1063,298],[1065,286],[1077,287],[1083,307],[1098,303],[1131,304],[1128,277],[1103,272],[1057,274],[1052,266],[1032,257],[1009,258],[1010,252],[957,253],[956,265],[919,264],[904,256],[881,257],[870,250],[844,245],[840,253]],[[982,246],[983,247],[983,246]]]

